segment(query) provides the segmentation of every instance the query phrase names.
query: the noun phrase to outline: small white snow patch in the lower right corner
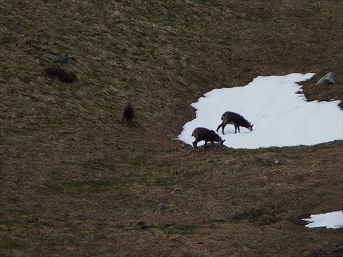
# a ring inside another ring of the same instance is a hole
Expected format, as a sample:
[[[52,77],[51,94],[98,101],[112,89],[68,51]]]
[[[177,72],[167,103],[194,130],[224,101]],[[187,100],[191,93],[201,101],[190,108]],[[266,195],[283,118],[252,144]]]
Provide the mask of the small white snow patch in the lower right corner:
[[[312,214],[309,219],[303,219],[311,223],[307,224],[306,227],[327,227],[338,229],[343,227],[343,213],[329,212],[325,214]]]

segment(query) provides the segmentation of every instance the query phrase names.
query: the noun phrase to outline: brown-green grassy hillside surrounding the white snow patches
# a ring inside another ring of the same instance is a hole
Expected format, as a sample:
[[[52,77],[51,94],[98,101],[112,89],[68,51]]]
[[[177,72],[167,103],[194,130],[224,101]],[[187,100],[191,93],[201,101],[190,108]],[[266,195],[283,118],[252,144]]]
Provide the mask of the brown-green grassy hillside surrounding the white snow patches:
[[[316,72],[305,96],[342,101],[342,13],[340,0],[3,1],[0,256],[336,256],[342,229],[301,219],[342,210],[342,141],[196,153],[175,138],[203,93],[257,76]],[[49,78],[54,65],[77,80]]]

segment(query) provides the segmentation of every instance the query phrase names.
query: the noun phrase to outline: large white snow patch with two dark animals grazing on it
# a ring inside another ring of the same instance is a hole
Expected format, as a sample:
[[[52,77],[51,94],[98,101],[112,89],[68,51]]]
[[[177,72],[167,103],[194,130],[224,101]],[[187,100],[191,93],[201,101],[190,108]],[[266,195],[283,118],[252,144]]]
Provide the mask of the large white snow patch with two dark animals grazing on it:
[[[226,125],[218,134],[230,148],[255,149],[270,146],[314,145],[343,139],[343,114],[340,101],[307,102],[301,85],[315,74],[259,76],[244,87],[213,89],[196,103],[196,119],[187,122],[178,139],[192,144],[196,127],[217,129],[225,111],[233,111],[254,124],[253,131],[241,127],[235,134],[233,125]],[[316,86],[312,87],[324,87]],[[204,144],[199,142],[198,146]]]

